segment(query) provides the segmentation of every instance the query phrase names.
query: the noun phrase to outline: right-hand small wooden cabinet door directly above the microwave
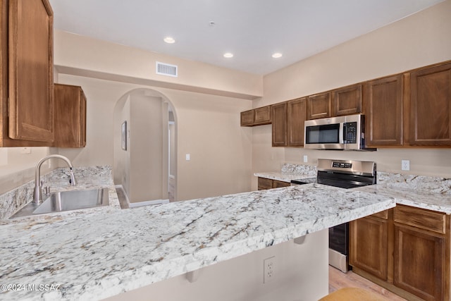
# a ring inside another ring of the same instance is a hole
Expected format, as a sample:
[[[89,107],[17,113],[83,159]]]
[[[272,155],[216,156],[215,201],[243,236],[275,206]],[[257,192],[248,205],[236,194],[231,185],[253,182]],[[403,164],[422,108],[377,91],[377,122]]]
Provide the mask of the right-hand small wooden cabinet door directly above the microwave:
[[[362,85],[342,87],[333,92],[333,116],[362,113]]]

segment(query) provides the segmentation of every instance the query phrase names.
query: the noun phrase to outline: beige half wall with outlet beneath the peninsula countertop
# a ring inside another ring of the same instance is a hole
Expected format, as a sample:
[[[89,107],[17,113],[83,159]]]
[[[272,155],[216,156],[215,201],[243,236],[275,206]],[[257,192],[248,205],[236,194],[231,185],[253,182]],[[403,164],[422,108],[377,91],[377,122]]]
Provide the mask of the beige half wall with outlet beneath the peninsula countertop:
[[[270,257],[273,278],[263,283],[264,259]],[[206,266],[196,275],[193,282],[175,276],[105,300],[319,300],[328,294],[328,230],[308,234],[302,245],[289,240]]]

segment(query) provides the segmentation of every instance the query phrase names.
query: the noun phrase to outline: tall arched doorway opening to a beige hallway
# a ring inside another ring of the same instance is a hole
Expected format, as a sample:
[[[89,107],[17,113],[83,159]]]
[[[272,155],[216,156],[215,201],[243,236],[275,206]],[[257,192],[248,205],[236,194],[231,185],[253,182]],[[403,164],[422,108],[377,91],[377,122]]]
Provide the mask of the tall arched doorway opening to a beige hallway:
[[[139,88],[114,107],[113,176],[130,207],[176,199],[176,114],[169,99]]]

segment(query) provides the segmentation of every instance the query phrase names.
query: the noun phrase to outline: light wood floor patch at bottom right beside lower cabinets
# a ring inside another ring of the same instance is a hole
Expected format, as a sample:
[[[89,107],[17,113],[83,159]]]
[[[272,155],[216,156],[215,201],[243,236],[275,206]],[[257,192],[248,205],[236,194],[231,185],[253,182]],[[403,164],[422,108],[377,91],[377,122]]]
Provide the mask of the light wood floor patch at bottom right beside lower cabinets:
[[[387,300],[405,301],[404,298],[395,295],[390,292],[390,290],[385,290],[385,288],[372,283],[362,276],[352,273],[352,271],[348,271],[345,274],[340,270],[335,269],[333,266],[329,266],[329,293],[335,292],[335,290],[340,288],[364,288],[387,298]]]

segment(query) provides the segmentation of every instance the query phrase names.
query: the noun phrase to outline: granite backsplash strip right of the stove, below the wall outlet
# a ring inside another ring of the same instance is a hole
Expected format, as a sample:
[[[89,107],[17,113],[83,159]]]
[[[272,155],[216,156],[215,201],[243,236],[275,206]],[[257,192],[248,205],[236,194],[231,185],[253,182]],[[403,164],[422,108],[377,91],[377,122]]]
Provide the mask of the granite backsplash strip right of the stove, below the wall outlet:
[[[378,171],[377,183],[387,185],[390,188],[427,190],[428,192],[451,194],[451,178]]]

